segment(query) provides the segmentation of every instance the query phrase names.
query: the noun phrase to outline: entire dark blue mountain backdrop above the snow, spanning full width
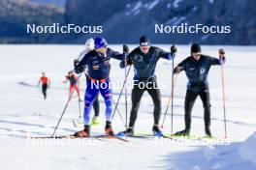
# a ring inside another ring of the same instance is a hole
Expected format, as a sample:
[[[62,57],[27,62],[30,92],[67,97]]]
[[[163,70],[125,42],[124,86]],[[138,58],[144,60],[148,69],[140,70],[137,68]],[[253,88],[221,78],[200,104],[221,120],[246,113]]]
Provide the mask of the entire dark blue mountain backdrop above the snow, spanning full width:
[[[255,0],[2,0],[0,43],[81,43],[96,36],[111,43],[137,43],[147,35],[155,43],[255,45],[255,9]],[[26,23],[102,25],[103,34],[31,35],[26,34]],[[155,34],[155,24],[181,23],[229,25],[231,33]]]

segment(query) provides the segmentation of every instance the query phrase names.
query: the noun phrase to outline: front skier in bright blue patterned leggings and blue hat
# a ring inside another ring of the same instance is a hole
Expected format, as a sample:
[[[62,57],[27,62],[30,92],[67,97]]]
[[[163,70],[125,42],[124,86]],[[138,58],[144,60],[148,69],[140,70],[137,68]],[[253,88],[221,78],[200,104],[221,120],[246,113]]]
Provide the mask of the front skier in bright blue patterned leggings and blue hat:
[[[75,71],[80,73],[84,68],[88,69],[88,81],[84,96],[84,129],[75,133],[75,136],[87,137],[90,135],[90,111],[97,93],[100,92],[106,104],[106,127],[107,135],[113,135],[112,130],[112,88],[110,79],[110,60],[123,59],[123,54],[113,51],[108,47],[108,42],[103,38],[94,40],[95,49],[88,52],[75,67]]]

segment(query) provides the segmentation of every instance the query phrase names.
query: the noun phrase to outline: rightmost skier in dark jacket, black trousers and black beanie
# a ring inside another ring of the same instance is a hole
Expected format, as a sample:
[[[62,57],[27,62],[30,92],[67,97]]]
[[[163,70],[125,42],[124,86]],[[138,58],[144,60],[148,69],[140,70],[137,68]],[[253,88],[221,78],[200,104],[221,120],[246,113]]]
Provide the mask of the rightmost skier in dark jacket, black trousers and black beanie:
[[[184,102],[185,129],[177,131],[176,135],[189,135],[191,128],[191,111],[195,100],[199,96],[203,101],[205,114],[205,131],[207,136],[210,133],[210,101],[208,91],[208,71],[212,65],[221,65],[225,62],[225,52],[220,50],[219,59],[201,53],[201,46],[194,43],[191,46],[191,56],[187,57],[177,65],[174,73],[185,71],[188,78],[187,91]]]

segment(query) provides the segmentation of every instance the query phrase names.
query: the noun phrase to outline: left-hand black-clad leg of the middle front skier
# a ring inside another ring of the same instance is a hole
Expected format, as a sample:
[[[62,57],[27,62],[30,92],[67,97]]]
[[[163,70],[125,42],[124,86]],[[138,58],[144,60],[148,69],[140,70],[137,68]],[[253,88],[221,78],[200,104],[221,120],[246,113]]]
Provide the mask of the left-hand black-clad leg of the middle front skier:
[[[135,84],[132,90],[132,109],[130,113],[129,128],[134,128],[137,115],[138,115],[138,109],[140,107],[140,102],[143,95],[144,95],[144,89],[140,89],[139,86]]]

